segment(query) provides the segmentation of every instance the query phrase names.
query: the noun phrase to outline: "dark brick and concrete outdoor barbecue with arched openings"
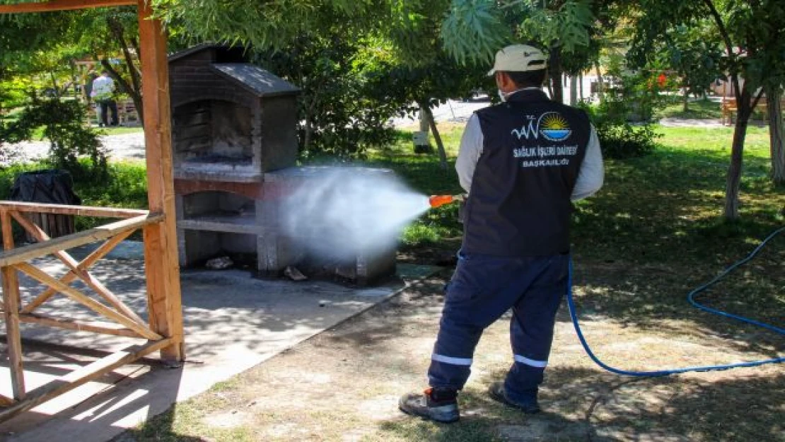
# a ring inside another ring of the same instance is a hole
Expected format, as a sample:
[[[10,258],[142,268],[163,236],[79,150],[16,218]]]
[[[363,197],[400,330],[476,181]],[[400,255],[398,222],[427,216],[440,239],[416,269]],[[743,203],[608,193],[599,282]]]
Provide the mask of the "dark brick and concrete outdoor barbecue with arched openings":
[[[246,63],[242,48],[195,46],[169,63],[181,266],[228,255],[250,258],[261,276],[298,265],[361,284],[395,272],[394,249],[324,262],[280,231],[283,199],[329,170],[296,166],[296,86]]]

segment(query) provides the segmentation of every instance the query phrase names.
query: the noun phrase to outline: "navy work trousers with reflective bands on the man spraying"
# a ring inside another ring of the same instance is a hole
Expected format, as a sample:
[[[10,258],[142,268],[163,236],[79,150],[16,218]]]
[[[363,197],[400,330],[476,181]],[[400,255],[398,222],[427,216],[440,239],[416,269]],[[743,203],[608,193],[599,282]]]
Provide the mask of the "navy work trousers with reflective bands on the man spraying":
[[[513,309],[509,334],[514,362],[505,389],[513,400],[531,400],[542,383],[556,312],[567,293],[569,255],[500,258],[459,254],[458,258],[431,356],[430,385],[463,389],[480,335]]]

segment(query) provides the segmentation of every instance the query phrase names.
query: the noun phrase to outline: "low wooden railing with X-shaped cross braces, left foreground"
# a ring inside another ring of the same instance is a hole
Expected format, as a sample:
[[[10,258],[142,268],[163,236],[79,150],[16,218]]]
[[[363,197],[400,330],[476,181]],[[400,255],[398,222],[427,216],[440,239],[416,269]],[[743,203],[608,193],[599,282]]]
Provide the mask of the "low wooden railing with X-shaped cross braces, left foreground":
[[[107,225],[76,232],[68,236],[51,239],[30,221],[25,214],[65,214],[88,217],[123,218]],[[2,226],[2,242],[4,251],[0,253],[0,272],[2,272],[2,308],[5,318],[8,360],[11,376],[13,398],[0,395],[0,421],[21,411],[42,404],[55,396],[59,396],[79,385],[90,382],[102,374],[114,370],[126,363],[163,349],[173,344],[171,337],[162,336],[155,331],[148,321],[133,312],[117,295],[89,272],[89,268],[104,258],[123,239],[137,229],[157,228],[163,221],[162,214],[150,214],[147,210],[111,209],[87,206],[60,206],[56,204],[34,204],[0,201],[0,226]],[[13,240],[13,221],[38,240],[38,243],[15,248]],[[82,261],[77,261],[65,250],[83,246],[88,243],[104,241],[96,250]],[[31,264],[31,260],[52,254],[68,268],[68,272],[59,279],[50,276],[42,269]],[[46,286],[45,290],[35,295],[24,305],[20,297],[17,272],[22,272]],[[70,283],[81,279],[100,299],[71,287]],[[71,320],[64,317],[47,316],[36,312],[53,298],[54,294],[64,294],[71,301],[79,303],[102,316],[104,322]],[[152,310],[152,301],[148,296],[148,312]],[[27,392],[24,385],[24,367],[22,362],[22,340],[20,323],[33,323],[46,327],[58,327],[68,330],[89,331],[97,334],[111,334],[130,338],[147,339],[142,345],[132,345],[120,352],[112,353],[100,360],[89,363],[55,382],[42,385]],[[152,321],[154,323],[154,321]]]

